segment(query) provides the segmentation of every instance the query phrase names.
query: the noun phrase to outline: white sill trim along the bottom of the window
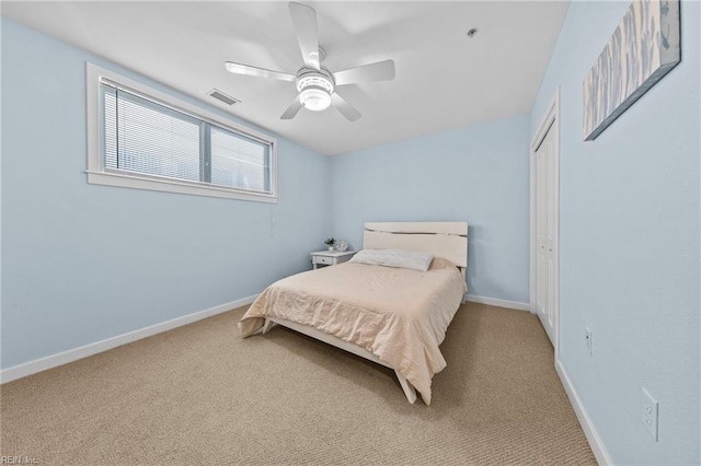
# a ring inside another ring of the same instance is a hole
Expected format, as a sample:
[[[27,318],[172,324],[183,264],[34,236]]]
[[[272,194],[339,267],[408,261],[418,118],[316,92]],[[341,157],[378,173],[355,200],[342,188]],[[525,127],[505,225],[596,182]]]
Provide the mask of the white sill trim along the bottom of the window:
[[[277,196],[244,193],[220,186],[209,186],[175,179],[157,179],[122,173],[87,171],[88,183],[91,185],[117,186],[131,189],[147,189],[152,191],[177,193],[192,196],[208,196],[226,199],[250,200],[255,202],[276,203]]]

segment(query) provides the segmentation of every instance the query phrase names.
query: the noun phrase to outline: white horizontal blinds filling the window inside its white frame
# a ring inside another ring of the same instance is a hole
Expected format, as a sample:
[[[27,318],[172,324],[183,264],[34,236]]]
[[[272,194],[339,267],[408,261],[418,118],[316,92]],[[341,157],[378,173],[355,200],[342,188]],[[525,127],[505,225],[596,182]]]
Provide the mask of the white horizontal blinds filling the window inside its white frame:
[[[106,170],[272,193],[271,145],[103,81]]]

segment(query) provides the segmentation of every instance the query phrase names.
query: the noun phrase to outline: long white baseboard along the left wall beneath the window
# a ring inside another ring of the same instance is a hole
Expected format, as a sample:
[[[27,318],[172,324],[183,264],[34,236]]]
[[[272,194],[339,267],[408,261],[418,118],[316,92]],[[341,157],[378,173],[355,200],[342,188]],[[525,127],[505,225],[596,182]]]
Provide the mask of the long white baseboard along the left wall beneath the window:
[[[127,345],[133,341],[160,334],[162,331],[171,330],[176,327],[182,327],[183,325],[192,324],[193,322],[202,321],[203,318],[211,317],[212,315],[221,314],[223,312],[251,304],[253,301],[255,301],[256,298],[257,294],[243,298],[241,300],[219,304],[218,306],[209,307],[207,310],[187,314],[182,317],[176,317],[171,321],[165,321],[160,324],[143,327],[138,330],[117,335],[116,337],[107,338],[102,341],[95,341],[94,343],[89,343],[68,351],[59,352],[56,354],[47,356],[45,358],[35,359],[34,361],[25,362],[23,364],[14,365],[12,368],[3,369],[2,371],[0,371],[0,383],[15,381],[18,378],[36,374],[37,372],[46,371],[47,369],[57,368],[59,365],[77,361],[79,359],[88,358],[89,356],[97,354],[99,352],[107,351],[110,349]]]

